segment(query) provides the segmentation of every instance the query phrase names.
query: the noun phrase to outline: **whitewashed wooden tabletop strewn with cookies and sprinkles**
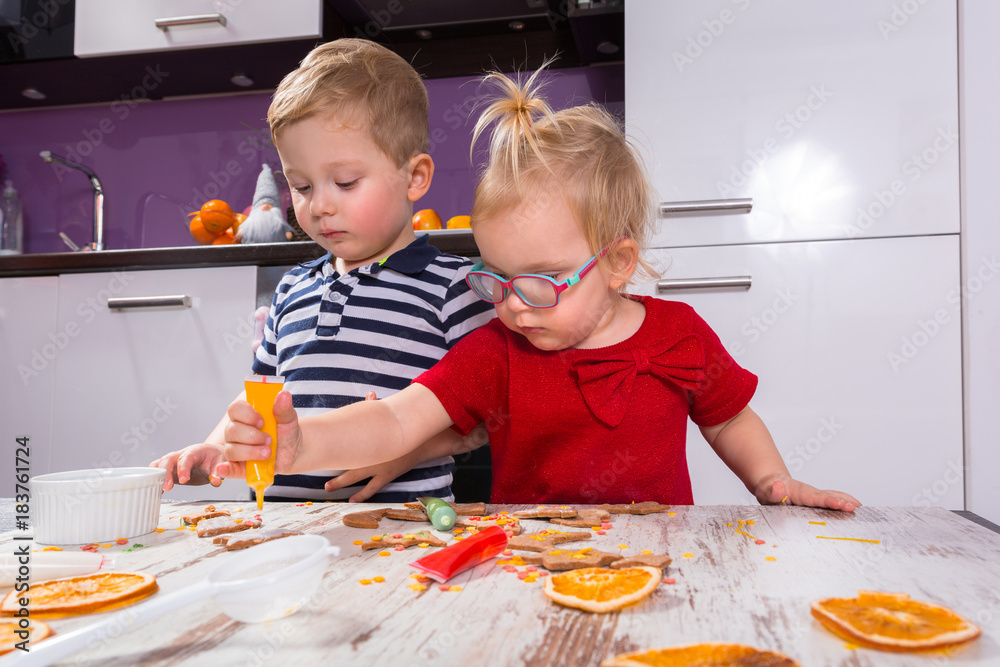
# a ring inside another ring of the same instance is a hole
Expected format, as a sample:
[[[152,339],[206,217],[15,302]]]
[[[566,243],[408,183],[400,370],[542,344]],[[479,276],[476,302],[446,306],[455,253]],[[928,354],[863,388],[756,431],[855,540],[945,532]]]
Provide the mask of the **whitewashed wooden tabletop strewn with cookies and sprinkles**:
[[[201,506],[164,504],[160,527],[166,530],[104,551],[114,553],[117,569],[155,574],[162,591],[190,585],[233,555],[176,529],[177,517]],[[217,506],[255,511],[249,503]],[[204,602],[65,664],[597,665],[624,651],[724,641],[777,650],[803,666],[1000,665],[1000,535],[946,510],[863,507],[852,516],[784,506],[685,506],[669,514],[614,516],[613,528],[586,545],[667,551],[674,562],[666,576],[676,583],[661,585],[638,605],[601,615],[559,607],[542,594],[544,579],[526,583],[494,564],[449,581],[462,587],[459,592],[442,591],[433,582],[424,591],[411,590],[414,570],[407,563],[427,551],[362,552],[353,542],[376,531],[340,521],[346,512],[375,507],[385,505],[265,508],[267,525],[324,535],[342,550],[296,613],[244,625]],[[406,532],[417,525],[383,520],[382,528]],[[546,526],[524,522],[526,530]],[[0,536],[2,552],[12,550],[11,538]],[[145,548],[125,551],[135,543]],[[375,576],[385,582],[359,583]],[[951,653],[852,648],[812,619],[809,603],[859,589],[905,592],[947,605],[978,623],[983,635]],[[60,632],[89,621],[51,624]]]

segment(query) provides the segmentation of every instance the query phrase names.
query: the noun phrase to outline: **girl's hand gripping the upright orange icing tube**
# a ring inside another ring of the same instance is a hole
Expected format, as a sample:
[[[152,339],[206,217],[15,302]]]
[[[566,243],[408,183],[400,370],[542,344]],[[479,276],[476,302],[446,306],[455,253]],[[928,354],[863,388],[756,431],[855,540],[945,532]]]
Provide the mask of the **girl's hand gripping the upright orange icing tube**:
[[[274,417],[278,424],[277,443],[270,442],[270,436],[260,430],[264,425],[264,418],[246,401],[233,401],[226,415],[229,417],[223,449],[226,460],[216,467],[215,474],[220,477],[245,477],[246,465],[243,462],[266,459],[274,446],[278,448],[274,471],[283,473],[291,469],[302,444],[299,417],[292,407],[291,394],[282,391],[274,399]]]

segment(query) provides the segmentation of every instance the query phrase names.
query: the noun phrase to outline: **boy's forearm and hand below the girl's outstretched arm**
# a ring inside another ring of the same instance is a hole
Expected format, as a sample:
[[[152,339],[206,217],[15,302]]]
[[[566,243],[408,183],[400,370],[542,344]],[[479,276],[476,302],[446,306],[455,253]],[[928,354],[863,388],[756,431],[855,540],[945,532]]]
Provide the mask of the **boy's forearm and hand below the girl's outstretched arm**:
[[[471,452],[473,449],[482,447],[488,441],[489,436],[483,425],[479,425],[469,435],[464,436],[454,429],[448,428],[398,459],[342,472],[326,483],[326,490],[336,491],[371,477],[371,481],[363,489],[348,499],[348,502],[363,503],[378,493],[386,484],[424,461]]]

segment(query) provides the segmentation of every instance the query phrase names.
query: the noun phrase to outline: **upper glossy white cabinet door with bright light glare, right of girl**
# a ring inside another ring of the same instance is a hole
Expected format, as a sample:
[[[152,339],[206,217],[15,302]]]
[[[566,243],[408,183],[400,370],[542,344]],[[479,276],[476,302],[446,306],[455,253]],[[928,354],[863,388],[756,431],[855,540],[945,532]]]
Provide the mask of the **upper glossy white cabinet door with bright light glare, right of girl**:
[[[957,233],[954,0],[629,0],[626,122],[659,246]]]

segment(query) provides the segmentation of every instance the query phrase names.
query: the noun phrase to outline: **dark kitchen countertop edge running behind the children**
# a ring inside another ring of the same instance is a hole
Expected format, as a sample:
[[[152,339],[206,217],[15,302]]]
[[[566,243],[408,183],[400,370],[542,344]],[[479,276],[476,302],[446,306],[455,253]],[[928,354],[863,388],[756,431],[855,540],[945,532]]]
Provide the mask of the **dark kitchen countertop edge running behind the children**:
[[[478,253],[469,230],[421,232],[431,245],[453,255]],[[0,256],[0,278],[45,276],[92,271],[188,269],[209,266],[287,266],[324,254],[312,241],[253,245],[184,246],[100,252],[54,252]]]

